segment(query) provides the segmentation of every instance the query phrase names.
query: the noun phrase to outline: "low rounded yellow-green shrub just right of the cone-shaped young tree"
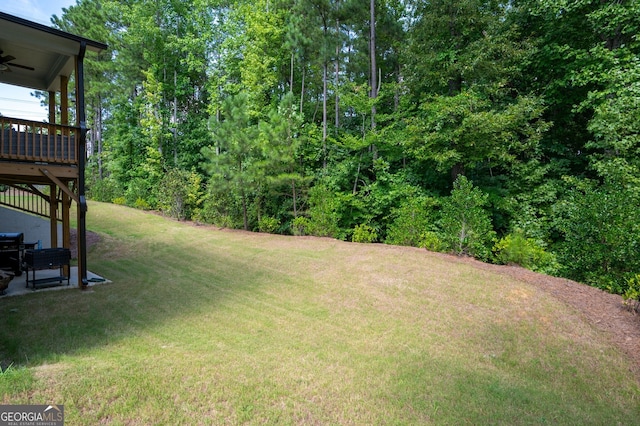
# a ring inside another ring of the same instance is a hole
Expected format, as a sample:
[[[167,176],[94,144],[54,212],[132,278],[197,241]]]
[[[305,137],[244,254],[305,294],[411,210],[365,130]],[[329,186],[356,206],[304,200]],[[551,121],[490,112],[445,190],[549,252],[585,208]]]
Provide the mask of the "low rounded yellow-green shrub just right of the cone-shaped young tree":
[[[523,268],[554,275],[559,264],[553,253],[533,238],[527,238],[521,230],[508,234],[493,247],[495,259],[504,265],[520,265]]]

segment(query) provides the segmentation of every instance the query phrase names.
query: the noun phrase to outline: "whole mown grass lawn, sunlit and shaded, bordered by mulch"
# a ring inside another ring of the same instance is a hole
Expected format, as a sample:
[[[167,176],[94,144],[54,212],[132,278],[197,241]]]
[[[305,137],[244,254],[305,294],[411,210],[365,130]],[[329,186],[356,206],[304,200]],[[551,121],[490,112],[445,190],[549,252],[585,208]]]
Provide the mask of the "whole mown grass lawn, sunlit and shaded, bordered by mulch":
[[[70,425],[640,421],[630,360],[506,276],[110,204],[88,227],[113,283],[0,299],[0,403]]]

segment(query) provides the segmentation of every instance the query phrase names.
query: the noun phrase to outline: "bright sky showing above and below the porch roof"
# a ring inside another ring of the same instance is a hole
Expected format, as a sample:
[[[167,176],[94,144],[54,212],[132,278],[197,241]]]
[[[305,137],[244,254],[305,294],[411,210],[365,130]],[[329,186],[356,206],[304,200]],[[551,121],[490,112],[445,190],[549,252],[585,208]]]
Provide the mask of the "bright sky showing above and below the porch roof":
[[[52,15],[62,15],[62,8],[76,4],[76,0],[2,0],[0,12],[51,26]],[[2,46],[0,46],[0,49]],[[0,113],[27,120],[47,120],[48,109],[30,95],[30,89],[0,83]]]

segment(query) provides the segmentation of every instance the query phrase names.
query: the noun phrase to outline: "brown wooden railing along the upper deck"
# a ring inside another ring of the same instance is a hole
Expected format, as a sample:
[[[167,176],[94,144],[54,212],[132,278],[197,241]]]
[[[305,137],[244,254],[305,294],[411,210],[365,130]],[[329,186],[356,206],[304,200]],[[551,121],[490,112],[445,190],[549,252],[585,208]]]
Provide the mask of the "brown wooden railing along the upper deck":
[[[0,160],[76,165],[79,129],[0,116]]]

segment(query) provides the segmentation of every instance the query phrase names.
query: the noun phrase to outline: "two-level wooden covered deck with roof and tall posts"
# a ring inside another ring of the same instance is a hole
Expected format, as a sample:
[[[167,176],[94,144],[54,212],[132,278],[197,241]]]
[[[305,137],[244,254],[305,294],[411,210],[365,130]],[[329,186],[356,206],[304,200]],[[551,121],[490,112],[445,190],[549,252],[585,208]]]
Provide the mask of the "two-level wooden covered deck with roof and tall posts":
[[[70,249],[75,203],[77,266],[65,266],[65,273],[70,285],[79,288],[88,287],[92,278],[86,264],[84,59],[87,52],[106,48],[0,12],[0,82],[46,92],[49,105],[47,122],[0,115],[0,205],[47,218],[50,247],[42,247],[46,250]],[[5,222],[0,223],[0,233],[25,231]],[[11,288],[24,280],[24,274],[16,275]]]

